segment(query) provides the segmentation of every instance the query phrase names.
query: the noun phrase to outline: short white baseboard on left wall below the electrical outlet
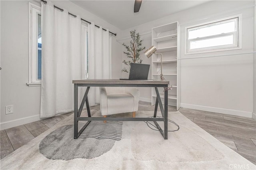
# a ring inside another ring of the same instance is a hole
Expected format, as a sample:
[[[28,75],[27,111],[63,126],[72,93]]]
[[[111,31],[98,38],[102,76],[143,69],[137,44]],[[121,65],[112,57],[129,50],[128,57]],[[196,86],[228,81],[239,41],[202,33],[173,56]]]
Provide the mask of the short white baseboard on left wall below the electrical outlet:
[[[7,122],[0,123],[0,129],[4,130],[7,128],[20,126],[20,125],[24,125],[24,124],[35,122],[35,121],[40,121],[40,115],[34,115],[34,116],[30,116],[30,117],[24,117],[21,119],[16,119],[13,121],[7,121]]]

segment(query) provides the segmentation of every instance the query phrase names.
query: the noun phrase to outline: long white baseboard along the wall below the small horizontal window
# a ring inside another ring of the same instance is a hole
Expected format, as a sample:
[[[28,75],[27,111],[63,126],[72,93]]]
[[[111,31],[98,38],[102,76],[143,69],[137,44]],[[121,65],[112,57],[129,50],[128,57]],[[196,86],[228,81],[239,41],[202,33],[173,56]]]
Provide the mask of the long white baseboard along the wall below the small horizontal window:
[[[181,105],[181,107],[188,108],[188,109],[196,109],[196,110],[201,110],[201,111],[223,113],[223,114],[227,114],[227,115],[252,118],[252,112],[238,111],[238,110],[232,110],[232,109],[222,109],[222,108],[200,106],[200,105],[191,105],[191,104],[186,104],[186,103],[180,103],[180,105]]]

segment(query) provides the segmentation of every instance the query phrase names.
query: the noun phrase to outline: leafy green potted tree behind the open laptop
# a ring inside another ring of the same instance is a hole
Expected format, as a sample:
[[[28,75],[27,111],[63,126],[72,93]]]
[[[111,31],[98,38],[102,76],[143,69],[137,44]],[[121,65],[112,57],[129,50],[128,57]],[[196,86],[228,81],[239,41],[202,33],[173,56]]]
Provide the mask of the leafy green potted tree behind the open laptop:
[[[142,63],[142,59],[140,58],[140,51],[146,48],[146,47],[142,47],[143,40],[140,40],[140,34],[139,33],[136,34],[136,30],[130,31],[130,34],[132,38],[132,40],[130,41],[130,45],[125,45],[124,43],[122,44],[127,49],[127,52],[124,52],[124,53],[127,55],[128,58],[132,59],[132,61],[126,61],[124,59],[122,62],[124,63],[124,65],[127,65],[129,68],[127,69],[126,67],[124,67],[122,69],[122,72],[126,72],[126,73],[129,73],[131,63]]]

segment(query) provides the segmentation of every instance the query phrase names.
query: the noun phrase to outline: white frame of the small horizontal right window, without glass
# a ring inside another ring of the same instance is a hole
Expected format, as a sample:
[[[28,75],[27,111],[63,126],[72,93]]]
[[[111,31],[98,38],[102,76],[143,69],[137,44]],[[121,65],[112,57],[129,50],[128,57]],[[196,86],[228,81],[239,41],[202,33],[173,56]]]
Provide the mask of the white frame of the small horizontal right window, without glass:
[[[188,40],[188,30],[190,30],[192,28],[205,26],[205,25],[211,25],[211,24],[214,24],[216,22],[222,22],[222,21],[225,21],[225,20],[232,20],[232,19],[235,19],[235,18],[237,18],[237,20],[236,20],[236,23],[237,23],[236,24],[236,32],[230,32],[230,33],[225,33],[225,34],[218,34],[218,35],[214,35],[214,36],[207,36],[207,37],[194,38],[194,39]],[[228,35],[233,35],[233,37],[234,37],[233,44],[220,45],[220,46],[214,46],[214,47],[204,47],[204,48],[200,48],[200,49],[190,49],[190,42],[191,41],[207,40],[207,39],[210,39],[210,38],[219,38],[219,37],[228,36]],[[238,15],[230,16],[230,17],[226,17],[226,18],[221,18],[221,19],[218,19],[218,20],[212,20],[210,22],[204,22],[204,23],[201,23],[201,24],[193,25],[193,26],[187,26],[187,27],[185,27],[185,42],[186,42],[185,43],[185,55],[242,49],[242,14],[238,14]]]

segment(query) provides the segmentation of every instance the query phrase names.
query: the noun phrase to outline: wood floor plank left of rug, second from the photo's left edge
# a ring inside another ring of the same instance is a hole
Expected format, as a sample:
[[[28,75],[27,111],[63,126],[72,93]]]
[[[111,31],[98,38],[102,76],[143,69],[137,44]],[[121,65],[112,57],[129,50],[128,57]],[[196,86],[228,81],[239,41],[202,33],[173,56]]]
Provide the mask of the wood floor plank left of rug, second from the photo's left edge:
[[[35,138],[24,125],[8,128],[5,131],[14,150]]]

